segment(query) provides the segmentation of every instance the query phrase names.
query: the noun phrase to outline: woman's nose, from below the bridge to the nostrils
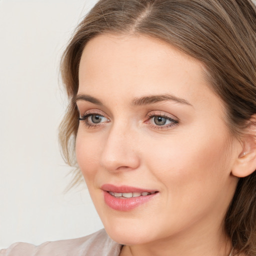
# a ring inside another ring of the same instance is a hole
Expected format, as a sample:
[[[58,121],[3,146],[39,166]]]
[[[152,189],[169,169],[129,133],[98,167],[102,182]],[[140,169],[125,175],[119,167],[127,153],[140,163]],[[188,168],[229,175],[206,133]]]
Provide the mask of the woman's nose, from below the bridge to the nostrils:
[[[100,165],[111,172],[134,170],[139,166],[137,134],[124,126],[113,125],[102,145]]]

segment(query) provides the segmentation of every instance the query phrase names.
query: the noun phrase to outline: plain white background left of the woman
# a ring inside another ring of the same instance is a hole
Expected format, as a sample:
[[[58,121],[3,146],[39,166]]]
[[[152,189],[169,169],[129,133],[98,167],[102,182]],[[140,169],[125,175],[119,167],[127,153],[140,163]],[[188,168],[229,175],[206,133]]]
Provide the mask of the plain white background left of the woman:
[[[57,143],[65,109],[59,59],[96,0],[0,0],[0,248],[84,236],[102,227]]]

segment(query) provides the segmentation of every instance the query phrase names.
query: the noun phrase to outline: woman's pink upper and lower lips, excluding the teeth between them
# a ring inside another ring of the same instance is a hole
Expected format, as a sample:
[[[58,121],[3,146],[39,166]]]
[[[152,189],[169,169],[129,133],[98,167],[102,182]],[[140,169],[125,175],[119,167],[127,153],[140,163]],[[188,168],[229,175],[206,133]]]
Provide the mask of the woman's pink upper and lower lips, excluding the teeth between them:
[[[158,194],[157,190],[152,189],[145,189],[145,188],[138,188],[132,186],[115,186],[112,184],[103,184],[101,186],[103,190],[104,201],[107,206],[114,210],[118,211],[129,211],[134,209],[135,207],[140,206],[141,204],[151,200],[155,195]],[[144,196],[137,196],[137,197],[130,197],[130,198],[118,198],[108,193],[108,191],[112,192],[119,192],[119,193],[129,193],[129,192],[154,192],[156,193],[144,195]]]

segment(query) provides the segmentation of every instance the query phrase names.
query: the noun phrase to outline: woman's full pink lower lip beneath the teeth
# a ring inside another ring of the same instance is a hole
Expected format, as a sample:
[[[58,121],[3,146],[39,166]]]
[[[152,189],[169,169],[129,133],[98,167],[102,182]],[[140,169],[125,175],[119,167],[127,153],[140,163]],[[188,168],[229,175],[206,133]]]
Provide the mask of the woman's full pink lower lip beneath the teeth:
[[[130,197],[130,198],[118,198],[114,197],[113,195],[109,194],[106,191],[104,193],[104,200],[105,203],[114,210],[119,211],[128,211],[134,209],[135,207],[149,201],[154,197],[157,193],[149,194],[149,195],[140,195],[137,197]]]

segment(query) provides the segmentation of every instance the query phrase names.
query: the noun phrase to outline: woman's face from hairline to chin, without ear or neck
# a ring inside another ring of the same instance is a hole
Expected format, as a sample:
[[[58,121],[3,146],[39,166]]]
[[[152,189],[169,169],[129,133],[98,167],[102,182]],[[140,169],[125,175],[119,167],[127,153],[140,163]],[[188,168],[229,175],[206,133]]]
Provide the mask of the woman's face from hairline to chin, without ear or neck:
[[[97,36],[82,53],[77,106],[77,161],[112,239],[222,232],[241,146],[199,61],[142,35]]]

